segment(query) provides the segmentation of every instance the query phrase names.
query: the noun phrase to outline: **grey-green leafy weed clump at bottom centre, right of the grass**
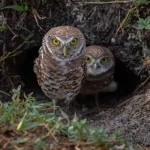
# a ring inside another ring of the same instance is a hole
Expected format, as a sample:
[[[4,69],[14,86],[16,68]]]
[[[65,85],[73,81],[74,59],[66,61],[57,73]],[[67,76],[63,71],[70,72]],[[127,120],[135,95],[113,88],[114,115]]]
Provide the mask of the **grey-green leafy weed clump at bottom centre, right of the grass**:
[[[68,128],[68,136],[72,141],[94,142],[97,146],[112,147],[116,145],[127,145],[127,142],[120,137],[116,131],[112,135],[105,134],[103,128],[89,129],[87,121],[75,121]]]

